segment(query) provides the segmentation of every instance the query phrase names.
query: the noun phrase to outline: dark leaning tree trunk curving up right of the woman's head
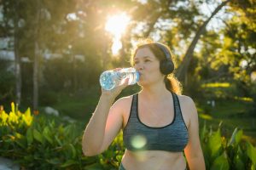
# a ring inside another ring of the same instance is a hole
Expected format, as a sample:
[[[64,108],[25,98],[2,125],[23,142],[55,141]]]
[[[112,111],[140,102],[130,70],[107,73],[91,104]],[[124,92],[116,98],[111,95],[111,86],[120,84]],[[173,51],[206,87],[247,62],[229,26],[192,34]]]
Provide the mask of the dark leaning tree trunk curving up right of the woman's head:
[[[193,53],[194,53],[194,49],[195,49],[195,45],[198,42],[198,40],[200,39],[201,35],[204,33],[207,24],[209,23],[210,20],[212,20],[212,17],[218,13],[218,11],[223,8],[226,3],[229,3],[230,0],[224,1],[223,3],[219,4],[217,8],[215,8],[215,10],[212,12],[211,16],[203,23],[202,26],[200,26],[200,28],[198,29],[198,31],[195,34],[195,37],[193,39],[193,41],[190,43],[188,50],[186,51],[186,54],[184,55],[183,58],[183,62],[181,63],[181,65],[177,68],[177,79],[181,82],[184,82],[186,77],[187,77],[187,72],[189,69],[189,64],[190,61],[193,57]],[[185,86],[187,84],[184,84]]]

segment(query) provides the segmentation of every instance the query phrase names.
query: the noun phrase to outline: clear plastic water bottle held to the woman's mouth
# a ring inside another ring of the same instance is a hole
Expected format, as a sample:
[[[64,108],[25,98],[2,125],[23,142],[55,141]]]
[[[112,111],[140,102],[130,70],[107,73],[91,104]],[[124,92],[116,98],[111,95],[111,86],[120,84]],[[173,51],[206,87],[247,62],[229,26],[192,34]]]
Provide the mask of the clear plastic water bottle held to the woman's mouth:
[[[100,83],[105,90],[111,90],[117,86],[122,85],[128,77],[128,85],[138,82],[139,73],[135,68],[123,68],[118,71],[104,71],[100,77]]]

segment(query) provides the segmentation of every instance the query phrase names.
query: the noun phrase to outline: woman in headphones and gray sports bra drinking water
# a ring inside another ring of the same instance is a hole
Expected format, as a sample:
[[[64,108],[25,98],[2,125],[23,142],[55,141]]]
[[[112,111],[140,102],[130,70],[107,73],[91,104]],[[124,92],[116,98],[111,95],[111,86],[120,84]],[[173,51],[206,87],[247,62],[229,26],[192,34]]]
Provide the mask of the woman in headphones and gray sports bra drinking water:
[[[142,90],[113,104],[127,80],[111,91],[102,89],[84,131],[84,155],[95,156],[107,150],[123,129],[126,150],[119,169],[184,170],[183,151],[189,169],[205,169],[195,104],[180,95],[169,48],[144,42],[131,56],[131,65],[140,73]]]

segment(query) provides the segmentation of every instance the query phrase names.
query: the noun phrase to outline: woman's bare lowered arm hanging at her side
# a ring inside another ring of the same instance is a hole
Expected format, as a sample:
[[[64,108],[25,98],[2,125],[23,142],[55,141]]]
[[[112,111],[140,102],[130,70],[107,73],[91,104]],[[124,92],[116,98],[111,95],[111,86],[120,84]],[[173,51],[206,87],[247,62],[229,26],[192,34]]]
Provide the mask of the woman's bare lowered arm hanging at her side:
[[[186,111],[189,113],[189,143],[184,152],[190,170],[205,170],[205,160],[199,138],[198,114],[195,103],[191,98],[186,99]]]

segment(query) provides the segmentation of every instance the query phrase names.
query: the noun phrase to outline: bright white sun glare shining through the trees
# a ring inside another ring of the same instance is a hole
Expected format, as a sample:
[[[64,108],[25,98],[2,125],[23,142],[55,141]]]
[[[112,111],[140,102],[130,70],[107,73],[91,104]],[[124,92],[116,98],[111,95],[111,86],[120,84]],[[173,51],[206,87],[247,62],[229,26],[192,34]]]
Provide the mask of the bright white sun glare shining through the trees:
[[[118,54],[119,49],[122,48],[120,38],[122,34],[125,33],[125,29],[130,23],[130,20],[130,17],[125,13],[115,14],[113,16],[108,17],[105,30],[110,32],[113,36],[113,54]]]

